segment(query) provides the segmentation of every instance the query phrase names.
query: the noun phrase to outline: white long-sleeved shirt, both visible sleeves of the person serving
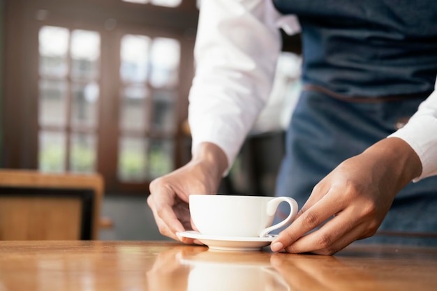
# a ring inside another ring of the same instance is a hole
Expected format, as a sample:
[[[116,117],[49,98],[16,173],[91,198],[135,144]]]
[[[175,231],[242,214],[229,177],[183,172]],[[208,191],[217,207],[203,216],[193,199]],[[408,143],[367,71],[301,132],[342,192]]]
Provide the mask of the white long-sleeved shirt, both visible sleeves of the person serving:
[[[300,30],[297,18],[281,15],[272,0],[202,1],[188,106],[193,152],[212,142],[232,165],[272,90],[279,27],[288,34]],[[389,137],[405,140],[420,157],[415,181],[437,174],[437,91]]]

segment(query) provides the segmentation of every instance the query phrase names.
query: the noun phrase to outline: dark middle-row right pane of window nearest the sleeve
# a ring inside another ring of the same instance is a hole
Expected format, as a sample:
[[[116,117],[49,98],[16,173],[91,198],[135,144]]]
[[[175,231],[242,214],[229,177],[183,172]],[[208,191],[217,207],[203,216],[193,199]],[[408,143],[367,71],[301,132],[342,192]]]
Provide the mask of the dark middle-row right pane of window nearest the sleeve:
[[[176,112],[175,91],[154,91],[153,127],[154,130],[172,132],[175,130]]]

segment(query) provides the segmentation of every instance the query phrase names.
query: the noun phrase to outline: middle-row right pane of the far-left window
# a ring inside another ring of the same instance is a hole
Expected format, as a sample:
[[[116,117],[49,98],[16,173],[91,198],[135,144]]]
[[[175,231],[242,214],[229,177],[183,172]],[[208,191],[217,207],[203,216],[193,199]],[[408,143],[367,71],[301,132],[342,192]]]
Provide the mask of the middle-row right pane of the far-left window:
[[[98,84],[72,85],[71,122],[74,126],[96,127],[97,124],[97,100],[99,94]]]

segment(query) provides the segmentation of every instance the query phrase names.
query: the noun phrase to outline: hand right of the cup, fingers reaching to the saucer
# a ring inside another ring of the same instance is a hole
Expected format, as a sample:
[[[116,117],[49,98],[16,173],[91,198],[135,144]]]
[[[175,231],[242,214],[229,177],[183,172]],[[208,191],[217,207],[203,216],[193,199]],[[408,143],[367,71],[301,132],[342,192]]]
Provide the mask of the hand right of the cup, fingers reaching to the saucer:
[[[397,193],[421,172],[419,157],[403,140],[374,144],[313,188],[295,221],[272,242],[272,251],[332,255],[371,237]]]

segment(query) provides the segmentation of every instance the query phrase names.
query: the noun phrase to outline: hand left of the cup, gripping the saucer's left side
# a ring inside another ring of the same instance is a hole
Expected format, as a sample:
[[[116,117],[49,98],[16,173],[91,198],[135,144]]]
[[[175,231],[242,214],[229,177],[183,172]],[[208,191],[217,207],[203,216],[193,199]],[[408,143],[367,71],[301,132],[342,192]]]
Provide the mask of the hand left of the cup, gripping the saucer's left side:
[[[212,143],[198,146],[193,158],[183,167],[151,182],[147,204],[153,211],[159,232],[177,239],[177,232],[193,230],[188,196],[214,194],[228,167],[228,159],[222,149]],[[192,244],[193,239],[180,239]]]

